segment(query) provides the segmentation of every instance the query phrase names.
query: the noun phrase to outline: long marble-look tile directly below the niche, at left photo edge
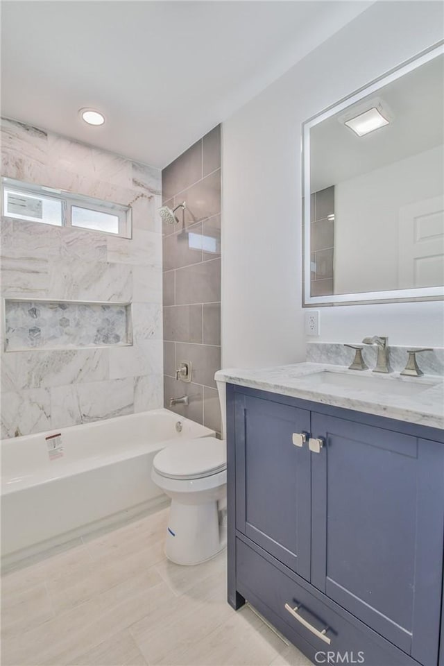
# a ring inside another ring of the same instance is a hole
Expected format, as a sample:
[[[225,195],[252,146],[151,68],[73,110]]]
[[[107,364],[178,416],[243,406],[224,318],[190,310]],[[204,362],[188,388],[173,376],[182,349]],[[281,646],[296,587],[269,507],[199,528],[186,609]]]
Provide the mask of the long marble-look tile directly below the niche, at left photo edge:
[[[108,379],[108,350],[11,352],[1,359],[1,391]]]

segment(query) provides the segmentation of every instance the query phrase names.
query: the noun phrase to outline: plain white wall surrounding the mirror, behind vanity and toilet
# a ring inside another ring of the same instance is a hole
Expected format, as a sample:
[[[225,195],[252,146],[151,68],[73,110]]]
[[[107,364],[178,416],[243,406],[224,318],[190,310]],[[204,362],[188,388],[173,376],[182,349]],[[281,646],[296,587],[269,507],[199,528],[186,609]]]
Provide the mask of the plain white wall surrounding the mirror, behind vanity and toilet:
[[[438,2],[375,3],[223,123],[223,366],[305,358],[301,123],[442,39],[443,12]],[[321,308],[315,340],[377,333],[443,345],[443,305]]]

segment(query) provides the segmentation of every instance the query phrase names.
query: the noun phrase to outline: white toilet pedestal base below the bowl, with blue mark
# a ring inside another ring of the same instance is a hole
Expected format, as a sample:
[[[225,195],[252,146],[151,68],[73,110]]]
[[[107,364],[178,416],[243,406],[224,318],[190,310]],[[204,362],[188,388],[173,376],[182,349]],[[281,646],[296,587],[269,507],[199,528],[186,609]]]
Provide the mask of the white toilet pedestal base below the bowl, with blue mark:
[[[218,504],[182,504],[171,500],[165,555],[180,565],[210,560],[226,547],[225,529],[219,525]]]

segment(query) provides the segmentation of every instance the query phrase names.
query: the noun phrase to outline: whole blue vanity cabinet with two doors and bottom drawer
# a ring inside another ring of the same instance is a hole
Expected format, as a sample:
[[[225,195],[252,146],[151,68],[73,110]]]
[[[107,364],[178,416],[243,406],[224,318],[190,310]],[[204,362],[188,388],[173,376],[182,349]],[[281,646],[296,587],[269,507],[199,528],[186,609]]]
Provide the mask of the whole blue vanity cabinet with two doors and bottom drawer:
[[[227,389],[230,604],[317,663],[444,666],[444,433]]]

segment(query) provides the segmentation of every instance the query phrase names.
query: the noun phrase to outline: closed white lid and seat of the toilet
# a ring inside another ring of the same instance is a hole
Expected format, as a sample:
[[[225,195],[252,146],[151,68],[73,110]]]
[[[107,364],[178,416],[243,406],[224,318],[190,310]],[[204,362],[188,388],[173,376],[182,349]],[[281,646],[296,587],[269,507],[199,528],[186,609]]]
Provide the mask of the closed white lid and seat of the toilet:
[[[188,439],[156,454],[153,468],[168,479],[201,479],[225,470],[225,441],[215,437]]]

